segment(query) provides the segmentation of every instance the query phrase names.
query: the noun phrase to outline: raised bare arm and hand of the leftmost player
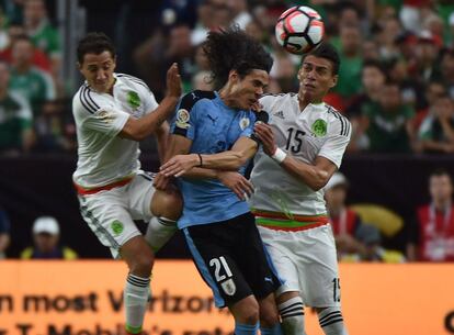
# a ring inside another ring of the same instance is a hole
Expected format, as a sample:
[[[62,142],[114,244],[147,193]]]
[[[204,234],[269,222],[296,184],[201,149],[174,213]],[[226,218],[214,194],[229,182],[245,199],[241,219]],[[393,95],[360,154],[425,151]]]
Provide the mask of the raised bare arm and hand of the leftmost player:
[[[125,126],[120,132],[120,136],[141,141],[155,133],[174,111],[180,96],[181,78],[177,63],[173,63],[167,71],[167,94],[159,107],[152,113],[148,113],[141,119],[129,116]]]

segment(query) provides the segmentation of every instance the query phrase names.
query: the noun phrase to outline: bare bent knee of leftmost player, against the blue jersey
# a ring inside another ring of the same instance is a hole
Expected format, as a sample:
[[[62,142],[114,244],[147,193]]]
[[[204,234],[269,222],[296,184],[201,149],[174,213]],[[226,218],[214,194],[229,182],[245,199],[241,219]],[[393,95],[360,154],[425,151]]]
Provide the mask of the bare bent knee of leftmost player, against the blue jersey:
[[[177,221],[181,216],[182,209],[183,200],[177,190],[157,190],[155,192],[151,200],[151,212],[156,216],[164,216]]]

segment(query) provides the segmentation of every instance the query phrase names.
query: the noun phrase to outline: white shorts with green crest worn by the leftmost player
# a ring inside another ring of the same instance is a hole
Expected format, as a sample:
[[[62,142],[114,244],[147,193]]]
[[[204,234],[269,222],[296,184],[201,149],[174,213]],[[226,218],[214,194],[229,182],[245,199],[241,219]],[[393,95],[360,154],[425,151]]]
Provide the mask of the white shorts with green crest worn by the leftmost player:
[[[139,172],[123,187],[79,194],[80,212],[100,242],[118,258],[120,247],[141,235],[134,220],[148,222],[154,216],[150,210],[154,193],[150,175]]]

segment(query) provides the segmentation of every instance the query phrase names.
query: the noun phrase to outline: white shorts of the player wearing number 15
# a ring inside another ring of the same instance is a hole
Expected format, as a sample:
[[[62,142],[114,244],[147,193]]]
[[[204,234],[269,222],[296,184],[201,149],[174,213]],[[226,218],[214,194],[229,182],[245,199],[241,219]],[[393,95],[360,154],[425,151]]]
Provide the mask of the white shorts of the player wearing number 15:
[[[338,260],[329,224],[298,232],[258,227],[283,281],[277,295],[298,291],[305,305],[340,306]]]

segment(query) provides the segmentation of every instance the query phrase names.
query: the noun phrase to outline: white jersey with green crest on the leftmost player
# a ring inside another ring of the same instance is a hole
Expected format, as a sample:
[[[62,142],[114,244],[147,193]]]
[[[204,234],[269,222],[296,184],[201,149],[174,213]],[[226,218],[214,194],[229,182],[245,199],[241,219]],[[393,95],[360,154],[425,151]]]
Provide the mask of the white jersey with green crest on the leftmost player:
[[[79,145],[72,179],[84,188],[102,187],[139,170],[138,142],[117,135],[128,118],[140,119],[158,107],[143,80],[123,74],[114,78],[112,96],[98,93],[86,82],[72,99]]]

